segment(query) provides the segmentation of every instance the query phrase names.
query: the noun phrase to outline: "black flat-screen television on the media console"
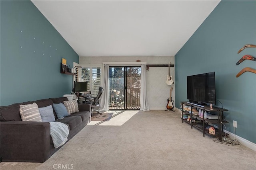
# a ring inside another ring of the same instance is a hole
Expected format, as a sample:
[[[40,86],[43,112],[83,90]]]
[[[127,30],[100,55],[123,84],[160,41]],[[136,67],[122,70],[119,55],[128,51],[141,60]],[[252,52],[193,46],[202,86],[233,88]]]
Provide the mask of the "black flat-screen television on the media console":
[[[195,104],[216,104],[215,72],[187,76],[187,98]]]

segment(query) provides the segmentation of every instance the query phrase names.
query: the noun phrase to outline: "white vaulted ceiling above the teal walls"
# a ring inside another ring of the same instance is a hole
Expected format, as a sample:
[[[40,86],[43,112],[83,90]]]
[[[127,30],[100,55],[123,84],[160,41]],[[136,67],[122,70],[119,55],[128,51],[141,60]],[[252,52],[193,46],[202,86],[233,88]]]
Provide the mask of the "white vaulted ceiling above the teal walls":
[[[32,0],[79,56],[174,56],[219,0]]]

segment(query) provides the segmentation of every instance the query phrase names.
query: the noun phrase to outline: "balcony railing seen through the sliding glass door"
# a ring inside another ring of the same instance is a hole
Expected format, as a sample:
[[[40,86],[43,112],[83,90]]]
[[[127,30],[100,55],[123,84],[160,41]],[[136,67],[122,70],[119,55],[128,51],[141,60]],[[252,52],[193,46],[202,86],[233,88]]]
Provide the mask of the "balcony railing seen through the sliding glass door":
[[[140,88],[127,88],[127,107],[140,106]],[[110,107],[124,107],[124,88],[111,89],[109,94]]]

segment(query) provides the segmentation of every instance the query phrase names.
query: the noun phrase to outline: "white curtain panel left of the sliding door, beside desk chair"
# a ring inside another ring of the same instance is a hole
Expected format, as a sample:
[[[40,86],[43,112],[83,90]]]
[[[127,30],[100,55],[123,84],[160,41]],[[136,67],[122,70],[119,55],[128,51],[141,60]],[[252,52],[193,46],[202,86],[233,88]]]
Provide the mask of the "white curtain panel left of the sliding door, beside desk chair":
[[[98,111],[108,111],[108,99],[109,99],[109,80],[108,80],[109,65],[104,64],[104,76],[103,76],[103,93],[100,100],[100,109]]]

